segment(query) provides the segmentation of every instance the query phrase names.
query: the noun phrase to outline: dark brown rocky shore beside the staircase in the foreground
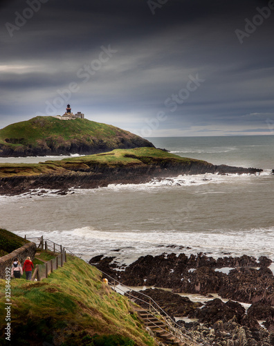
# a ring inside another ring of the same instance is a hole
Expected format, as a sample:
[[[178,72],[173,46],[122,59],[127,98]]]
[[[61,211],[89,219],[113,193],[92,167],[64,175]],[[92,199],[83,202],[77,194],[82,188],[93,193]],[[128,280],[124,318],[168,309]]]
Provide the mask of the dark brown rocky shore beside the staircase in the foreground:
[[[151,297],[172,318],[179,318],[177,323],[185,331],[209,345],[274,345],[274,275],[267,257],[214,259],[203,253],[190,257],[163,253],[142,256],[129,266],[121,266],[116,257],[99,255],[89,263],[127,286],[157,287],[140,293]],[[140,293],[134,292],[134,296],[138,298]],[[192,302],[183,293],[204,295],[208,301]]]

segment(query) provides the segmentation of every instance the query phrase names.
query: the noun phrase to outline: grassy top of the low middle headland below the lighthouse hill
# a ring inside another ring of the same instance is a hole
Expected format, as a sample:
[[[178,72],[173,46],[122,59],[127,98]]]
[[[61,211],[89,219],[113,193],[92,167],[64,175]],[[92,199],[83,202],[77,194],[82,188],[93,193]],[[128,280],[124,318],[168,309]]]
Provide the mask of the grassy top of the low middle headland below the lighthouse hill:
[[[104,154],[93,154],[76,158],[64,158],[61,161],[46,161],[38,164],[0,163],[0,178],[6,176],[29,176],[37,174],[60,174],[67,171],[85,170],[95,165],[127,166],[127,165],[165,165],[165,163],[190,165],[199,163],[210,165],[206,161],[194,158],[183,158],[161,149],[141,147],[134,149],[114,149]]]

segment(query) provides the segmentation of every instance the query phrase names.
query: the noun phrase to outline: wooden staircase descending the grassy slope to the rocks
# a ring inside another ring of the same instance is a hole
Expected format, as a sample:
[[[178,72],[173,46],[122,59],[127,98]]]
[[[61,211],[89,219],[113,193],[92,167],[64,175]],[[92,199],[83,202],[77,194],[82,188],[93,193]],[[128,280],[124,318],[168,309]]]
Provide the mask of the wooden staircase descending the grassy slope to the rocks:
[[[189,346],[190,343],[185,343],[176,337],[176,334],[168,330],[168,325],[165,321],[156,318],[149,311],[140,307],[134,307],[134,310],[138,313],[138,316],[143,320],[146,327],[151,329],[156,336],[165,345],[176,345],[176,346]],[[193,344],[196,345],[196,344]]]

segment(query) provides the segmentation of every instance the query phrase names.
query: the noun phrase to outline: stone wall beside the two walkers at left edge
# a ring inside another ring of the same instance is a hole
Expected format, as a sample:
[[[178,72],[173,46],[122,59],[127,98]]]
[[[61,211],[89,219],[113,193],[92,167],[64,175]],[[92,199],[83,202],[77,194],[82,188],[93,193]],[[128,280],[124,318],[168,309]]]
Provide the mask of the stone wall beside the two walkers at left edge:
[[[5,279],[5,271],[6,268],[11,268],[13,259],[15,257],[18,258],[19,262],[21,262],[21,265],[23,267],[23,264],[26,260],[26,257],[30,257],[31,260],[34,259],[36,253],[36,244],[35,243],[28,243],[24,246],[21,246],[21,248],[17,248],[15,251],[12,251],[12,253],[9,253],[6,256],[0,257],[0,279]]]

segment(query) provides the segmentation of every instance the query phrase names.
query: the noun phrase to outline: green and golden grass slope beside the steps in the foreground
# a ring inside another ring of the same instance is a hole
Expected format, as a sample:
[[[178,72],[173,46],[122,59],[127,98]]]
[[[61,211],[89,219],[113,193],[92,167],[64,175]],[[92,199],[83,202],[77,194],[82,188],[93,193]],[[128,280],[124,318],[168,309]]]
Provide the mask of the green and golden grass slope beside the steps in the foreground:
[[[138,322],[129,301],[102,283],[101,273],[78,257],[42,282],[11,283],[12,345],[155,345]],[[5,311],[5,280],[0,309]],[[0,345],[6,314],[0,314]],[[97,336],[96,336],[97,335]]]

